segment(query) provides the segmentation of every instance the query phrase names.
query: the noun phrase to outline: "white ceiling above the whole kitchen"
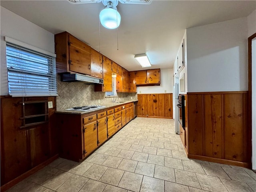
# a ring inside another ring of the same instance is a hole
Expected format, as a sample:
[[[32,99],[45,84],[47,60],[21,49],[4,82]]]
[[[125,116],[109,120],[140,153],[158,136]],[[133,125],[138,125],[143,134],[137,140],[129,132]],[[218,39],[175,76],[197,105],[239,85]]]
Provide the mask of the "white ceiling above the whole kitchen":
[[[256,1],[245,0],[119,3],[121,24],[118,30],[109,30],[99,28],[101,2],[1,0],[0,4],[53,34],[70,32],[129,71],[142,70],[134,55],[145,52],[151,68],[172,68],[186,28],[248,16],[256,9]]]

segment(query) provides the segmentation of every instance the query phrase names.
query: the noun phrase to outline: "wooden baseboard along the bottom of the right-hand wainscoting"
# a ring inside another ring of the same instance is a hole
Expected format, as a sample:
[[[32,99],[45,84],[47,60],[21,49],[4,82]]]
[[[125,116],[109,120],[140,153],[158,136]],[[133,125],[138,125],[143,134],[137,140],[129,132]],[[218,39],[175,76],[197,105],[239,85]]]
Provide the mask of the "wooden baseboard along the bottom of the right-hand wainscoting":
[[[250,169],[250,164],[246,163],[246,162],[238,162],[238,161],[206,157],[206,156],[194,155],[194,154],[188,154],[188,158],[202,160],[202,161],[210,161],[210,162],[214,162],[214,163],[233,165],[233,166],[239,166],[239,167],[245,167],[245,168]]]

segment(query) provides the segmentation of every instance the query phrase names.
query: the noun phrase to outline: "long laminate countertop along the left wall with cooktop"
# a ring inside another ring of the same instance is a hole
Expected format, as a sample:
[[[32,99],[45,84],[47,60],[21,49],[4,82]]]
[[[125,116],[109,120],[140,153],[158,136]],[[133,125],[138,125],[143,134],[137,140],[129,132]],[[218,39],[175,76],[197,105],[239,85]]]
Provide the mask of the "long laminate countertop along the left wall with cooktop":
[[[95,111],[102,110],[102,109],[108,109],[108,108],[115,107],[115,106],[122,106],[124,104],[130,103],[130,102],[136,102],[136,101],[138,101],[138,99],[118,101],[118,102],[110,102],[110,103],[104,104],[105,107],[96,108],[95,110],[90,110],[90,111],[56,110],[56,113],[82,115],[82,114],[91,113],[91,112],[95,112]]]

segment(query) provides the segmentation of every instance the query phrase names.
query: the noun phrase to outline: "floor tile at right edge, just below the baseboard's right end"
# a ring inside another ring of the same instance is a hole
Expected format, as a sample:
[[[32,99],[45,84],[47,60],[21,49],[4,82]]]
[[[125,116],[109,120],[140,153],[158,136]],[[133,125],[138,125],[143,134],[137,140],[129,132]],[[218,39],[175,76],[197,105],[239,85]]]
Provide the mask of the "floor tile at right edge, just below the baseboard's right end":
[[[242,169],[233,169],[228,167],[222,168],[232,180],[246,182],[254,185],[256,184],[256,181]]]

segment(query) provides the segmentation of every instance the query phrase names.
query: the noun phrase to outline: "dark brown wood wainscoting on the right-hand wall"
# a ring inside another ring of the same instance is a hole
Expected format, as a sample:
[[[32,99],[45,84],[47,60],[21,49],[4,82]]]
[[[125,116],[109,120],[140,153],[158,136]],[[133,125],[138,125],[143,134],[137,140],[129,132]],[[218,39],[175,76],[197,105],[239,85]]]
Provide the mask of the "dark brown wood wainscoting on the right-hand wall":
[[[250,168],[248,91],[187,94],[188,157]]]

